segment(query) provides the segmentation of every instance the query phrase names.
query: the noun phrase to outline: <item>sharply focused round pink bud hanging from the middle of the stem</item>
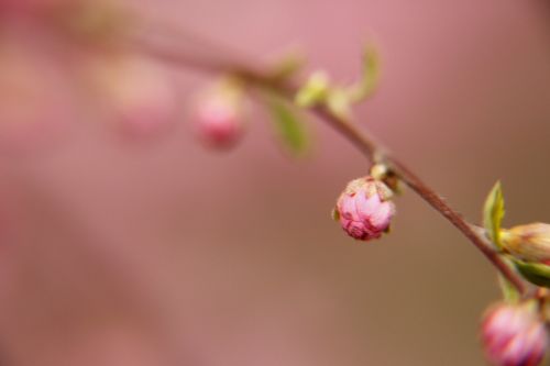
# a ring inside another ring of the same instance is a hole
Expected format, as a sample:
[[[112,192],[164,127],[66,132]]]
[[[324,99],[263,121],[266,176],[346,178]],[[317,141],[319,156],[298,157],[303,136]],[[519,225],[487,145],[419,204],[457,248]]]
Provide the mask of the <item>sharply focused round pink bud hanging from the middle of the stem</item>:
[[[352,180],[338,199],[334,219],[356,240],[378,239],[389,230],[389,222],[395,214],[392,196],[392,190],[385,184],[372,177]]]

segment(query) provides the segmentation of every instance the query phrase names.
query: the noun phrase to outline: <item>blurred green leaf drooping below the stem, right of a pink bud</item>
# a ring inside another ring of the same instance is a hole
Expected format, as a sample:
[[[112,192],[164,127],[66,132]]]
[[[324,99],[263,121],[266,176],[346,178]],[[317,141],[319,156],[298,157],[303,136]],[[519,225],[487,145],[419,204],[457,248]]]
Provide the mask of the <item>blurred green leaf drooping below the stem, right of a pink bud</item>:
[[[271,96],[268,99],[270,111],[275,122],[279,138],[293,155],[302,155],[309,148],[309,138],[305,124],[286,101]]]

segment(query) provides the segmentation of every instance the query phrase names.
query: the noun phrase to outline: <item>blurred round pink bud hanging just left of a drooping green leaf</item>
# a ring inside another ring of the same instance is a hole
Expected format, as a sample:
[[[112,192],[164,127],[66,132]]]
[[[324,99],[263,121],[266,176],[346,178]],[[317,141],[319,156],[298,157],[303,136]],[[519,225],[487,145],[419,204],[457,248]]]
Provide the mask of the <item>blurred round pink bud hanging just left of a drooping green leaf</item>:
[[[221,84],[205,92],[194,119],[201,140],[215,148],[229,148],[244,132],[244,96],[238,85]]]

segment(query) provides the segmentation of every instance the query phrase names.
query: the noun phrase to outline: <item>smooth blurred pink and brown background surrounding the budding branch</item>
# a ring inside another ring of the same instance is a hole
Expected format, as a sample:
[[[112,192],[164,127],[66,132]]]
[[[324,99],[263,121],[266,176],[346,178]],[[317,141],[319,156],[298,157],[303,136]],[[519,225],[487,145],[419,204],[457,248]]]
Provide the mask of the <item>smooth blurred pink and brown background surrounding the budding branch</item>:
[[[506,224],[550,222],[550,5],[543,1],[151,1],[258,60],[289,46],[354,78],[362,44],[384,77],[359,121],[476,221],[504,182]],[[392,235],[356,243],[330,219],[366,173],[311,121],[293,162],[255,114],[237,149],[182,119],[118,138],[82,110],[63,138],[0,157],[1,365],[483,365],[477,323],[495,273],[411,192]]]

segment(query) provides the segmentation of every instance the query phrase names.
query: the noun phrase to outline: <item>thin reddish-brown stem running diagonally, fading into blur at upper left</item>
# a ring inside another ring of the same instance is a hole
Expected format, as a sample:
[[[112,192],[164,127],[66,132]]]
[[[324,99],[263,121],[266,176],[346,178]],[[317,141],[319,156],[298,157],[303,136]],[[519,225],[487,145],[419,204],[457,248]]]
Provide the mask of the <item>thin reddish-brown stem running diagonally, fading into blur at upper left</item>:
[[[249,67],[243,63],[227,62],[223,59],[205,58],[190,55],[180,49],[166,48],[157,44],[146,42],[143,38],[134,40],[139,49],[176,66],[190,67],[209,74],[232,74],[240,77],[252,87],[268,89],[293,101],[298,87],[288,81],[274,79],[270,73]],[[383,146],[371,137],[371,134],[359,129],[350,121],[344,121],[328,108],[319,106],[312,112],[321,120],[330,124],[336,131],[348,138],[371,162],[384,163],[388,168],[408,187],[410,187],[421,199],[428,202],[436,211],[451,222],[482,254],[495,266],[495,268],[517,290],[525,295],[526,286],[521,278],[499,257],[492,247],[485,245],[483,237],[476,233],[475,226],[469,223],[458,211],[452,209],[433,189],[426,185],[405,164],[396,157],[386,153]]]

